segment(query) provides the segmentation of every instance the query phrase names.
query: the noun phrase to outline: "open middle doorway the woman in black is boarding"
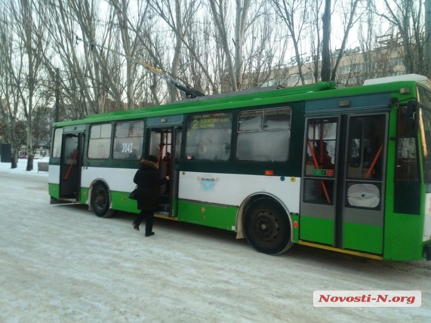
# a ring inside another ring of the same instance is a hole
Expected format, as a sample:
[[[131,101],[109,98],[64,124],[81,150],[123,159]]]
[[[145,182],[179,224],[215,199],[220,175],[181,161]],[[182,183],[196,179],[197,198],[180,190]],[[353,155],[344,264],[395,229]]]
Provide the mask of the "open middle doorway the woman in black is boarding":
[[[172,126],[166,125],[171,123]],[[159,161],[160,178],[169,175],[170,180],[160,187],[159,209],[156,216],[178,216],[179,154],[181,151],[182,116],[167,117],[163,125],[148,119],[147,155],[154,155]]]

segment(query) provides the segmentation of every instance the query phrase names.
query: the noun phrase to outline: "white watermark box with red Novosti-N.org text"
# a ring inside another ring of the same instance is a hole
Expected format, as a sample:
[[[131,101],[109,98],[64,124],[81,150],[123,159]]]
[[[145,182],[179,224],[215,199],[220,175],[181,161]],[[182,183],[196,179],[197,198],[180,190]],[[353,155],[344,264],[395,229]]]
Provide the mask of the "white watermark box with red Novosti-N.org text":
[[[315,290],[314,307],[420,307],[420,290]]]

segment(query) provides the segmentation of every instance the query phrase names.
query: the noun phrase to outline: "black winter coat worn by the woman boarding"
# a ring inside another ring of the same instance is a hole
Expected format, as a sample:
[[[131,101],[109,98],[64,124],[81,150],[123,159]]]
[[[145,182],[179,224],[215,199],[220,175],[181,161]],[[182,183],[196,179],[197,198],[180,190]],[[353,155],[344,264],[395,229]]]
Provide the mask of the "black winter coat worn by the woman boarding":
[[[152,161],[142,159],[133,182],[138,184],[136,201],[139,210],[156,211],[160,198],[160,185],[167,182],[167,178],[159,177],[159,166]]]

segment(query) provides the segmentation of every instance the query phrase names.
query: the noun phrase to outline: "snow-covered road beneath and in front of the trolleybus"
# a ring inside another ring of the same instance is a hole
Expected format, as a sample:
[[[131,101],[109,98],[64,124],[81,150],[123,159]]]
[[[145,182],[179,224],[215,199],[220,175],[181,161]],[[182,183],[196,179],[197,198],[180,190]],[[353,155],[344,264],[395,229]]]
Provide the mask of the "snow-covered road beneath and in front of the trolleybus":
[[[431,262],[295,245],[256,252],[235,233],[51,206],[47,176],[0,169],[0,322],[429,322]],[[317,308],[313,290],[422,290],[418,308]]]

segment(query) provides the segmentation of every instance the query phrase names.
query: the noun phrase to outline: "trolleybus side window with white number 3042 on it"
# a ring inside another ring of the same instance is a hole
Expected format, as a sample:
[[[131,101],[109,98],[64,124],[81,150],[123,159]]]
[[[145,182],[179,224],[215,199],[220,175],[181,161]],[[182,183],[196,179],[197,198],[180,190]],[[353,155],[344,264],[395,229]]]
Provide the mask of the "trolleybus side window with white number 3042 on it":
[[[144,122],[130,121],[115,125],[114,159],[140,159],[144,140]]]

